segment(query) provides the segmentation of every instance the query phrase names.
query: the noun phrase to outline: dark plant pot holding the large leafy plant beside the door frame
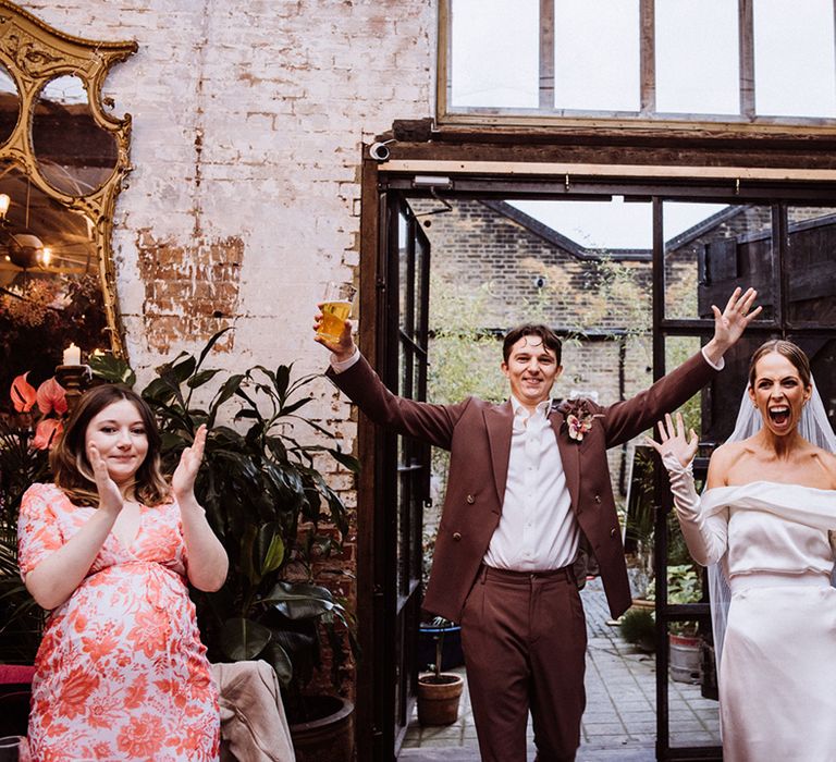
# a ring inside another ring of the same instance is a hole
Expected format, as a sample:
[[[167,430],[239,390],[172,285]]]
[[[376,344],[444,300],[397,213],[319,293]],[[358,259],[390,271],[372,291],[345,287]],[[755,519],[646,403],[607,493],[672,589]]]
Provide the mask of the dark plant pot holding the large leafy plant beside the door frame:
[[[322,717],[291,724],[296,762],[351,762],[354,759],[354,704],[339,696],[317,697],[316,701],[322,703]]]

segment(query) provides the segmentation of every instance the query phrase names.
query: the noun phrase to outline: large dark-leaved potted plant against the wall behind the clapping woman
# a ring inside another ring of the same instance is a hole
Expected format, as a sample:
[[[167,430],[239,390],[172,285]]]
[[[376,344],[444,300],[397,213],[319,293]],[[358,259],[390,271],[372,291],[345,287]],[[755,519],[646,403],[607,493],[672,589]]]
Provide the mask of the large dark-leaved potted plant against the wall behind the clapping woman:
[[[336,689],[357,650],[345,601],[312,582],[315,565],[327,563],[348,530],[345,505],[317,465],[331,458],[356,471],[358,464],[335,446],[333,434],[302,414],[312,401],[306,388],[318,374],[293,379],[292,365],[275,370],[257,365],[229,374],[207,404],[196,402],[205,391],[197,390],[221,373],[204,362],[224,332],[198,357],[181,353],[157,368],[143,391],[160,421],[168,465],[176,463],[201,423],[209,428],[195,492],[226,548],[230,574],[218,592],[195,591],[200,631],[213,661],[261,659],[273,666],[292,730],[320,720],[323,706],[336,706],[344,726],[349,702],[322,701],[305,690],[322,664],[325,642]],[[112,357],[91,358],[90,365],[106,380],[133,381],[130,369]],[[299,428],[329,444],[300,442]],[[333,530],[320,531],[321,524]],[[297,748],[298,759],[305,753]]]

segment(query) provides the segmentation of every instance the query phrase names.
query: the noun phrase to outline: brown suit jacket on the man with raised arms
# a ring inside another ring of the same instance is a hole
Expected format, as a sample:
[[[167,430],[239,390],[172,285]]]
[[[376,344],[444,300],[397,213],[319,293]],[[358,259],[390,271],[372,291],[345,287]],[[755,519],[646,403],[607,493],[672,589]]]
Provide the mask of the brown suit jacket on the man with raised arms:
[[[631,595],[606,450],[646,431],[715,372],[698,353],[632,400],[607,407],[589,402],[600,417],[581,442],[569,438],[560,409],[550,414],[571,509],[598,560],[613,616],[630,606]],[[468,397],[455,405],[433,405],[405,400],[383,385],[365,358],[342,373],[329,370],[328,376],[376,423],[451,451],[423,607],[457,622],[500,521],[511,455],[511,402],[495,405]]]

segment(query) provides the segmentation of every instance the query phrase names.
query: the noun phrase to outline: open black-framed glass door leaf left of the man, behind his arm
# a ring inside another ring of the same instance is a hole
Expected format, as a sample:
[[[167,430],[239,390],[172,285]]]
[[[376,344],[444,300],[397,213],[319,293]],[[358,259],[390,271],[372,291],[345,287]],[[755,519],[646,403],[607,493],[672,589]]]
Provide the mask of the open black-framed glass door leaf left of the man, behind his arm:
[[[378,357],[381,378],[395,394],[427,398],[427,341],[430,244],[409,205],[398,195],[386,197],[385,245],[378,281]],[[379,478],[376,505],[376,591],[383,642],[389,651],[376,671],[382,716],[379,727],[391,738],[383,748],[401,746],[417,691],[416,660],[421,605],[421,521],[430,494],[430,446],[407,437],[379,434]],[[374,654],[377,661],[378,654]],[[385,715],[389,714],[389,717]]]

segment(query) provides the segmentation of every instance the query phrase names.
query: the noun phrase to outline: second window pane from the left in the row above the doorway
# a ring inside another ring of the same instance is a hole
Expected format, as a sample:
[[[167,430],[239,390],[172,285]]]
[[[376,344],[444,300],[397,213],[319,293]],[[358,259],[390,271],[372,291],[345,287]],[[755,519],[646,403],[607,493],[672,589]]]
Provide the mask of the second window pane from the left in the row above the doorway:
[[[555,0],[554,106],[638,111],[639,0]]]

